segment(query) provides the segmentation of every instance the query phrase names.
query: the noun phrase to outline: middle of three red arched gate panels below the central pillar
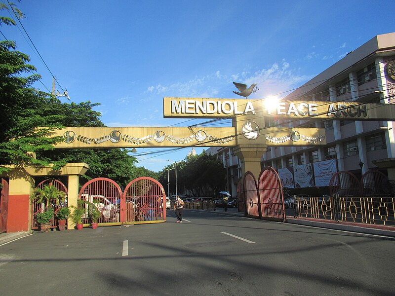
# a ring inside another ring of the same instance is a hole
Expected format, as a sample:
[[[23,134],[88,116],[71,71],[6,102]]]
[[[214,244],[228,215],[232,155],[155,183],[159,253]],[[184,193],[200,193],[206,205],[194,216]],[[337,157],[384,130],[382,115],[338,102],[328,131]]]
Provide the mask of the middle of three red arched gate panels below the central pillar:
[[[246,207],[246,215],[261,217],[261,210],[259,207],[260,201],[258,196],[258,186],[254,175],[251,172],[246,172],[243,178],[243,191]]]

